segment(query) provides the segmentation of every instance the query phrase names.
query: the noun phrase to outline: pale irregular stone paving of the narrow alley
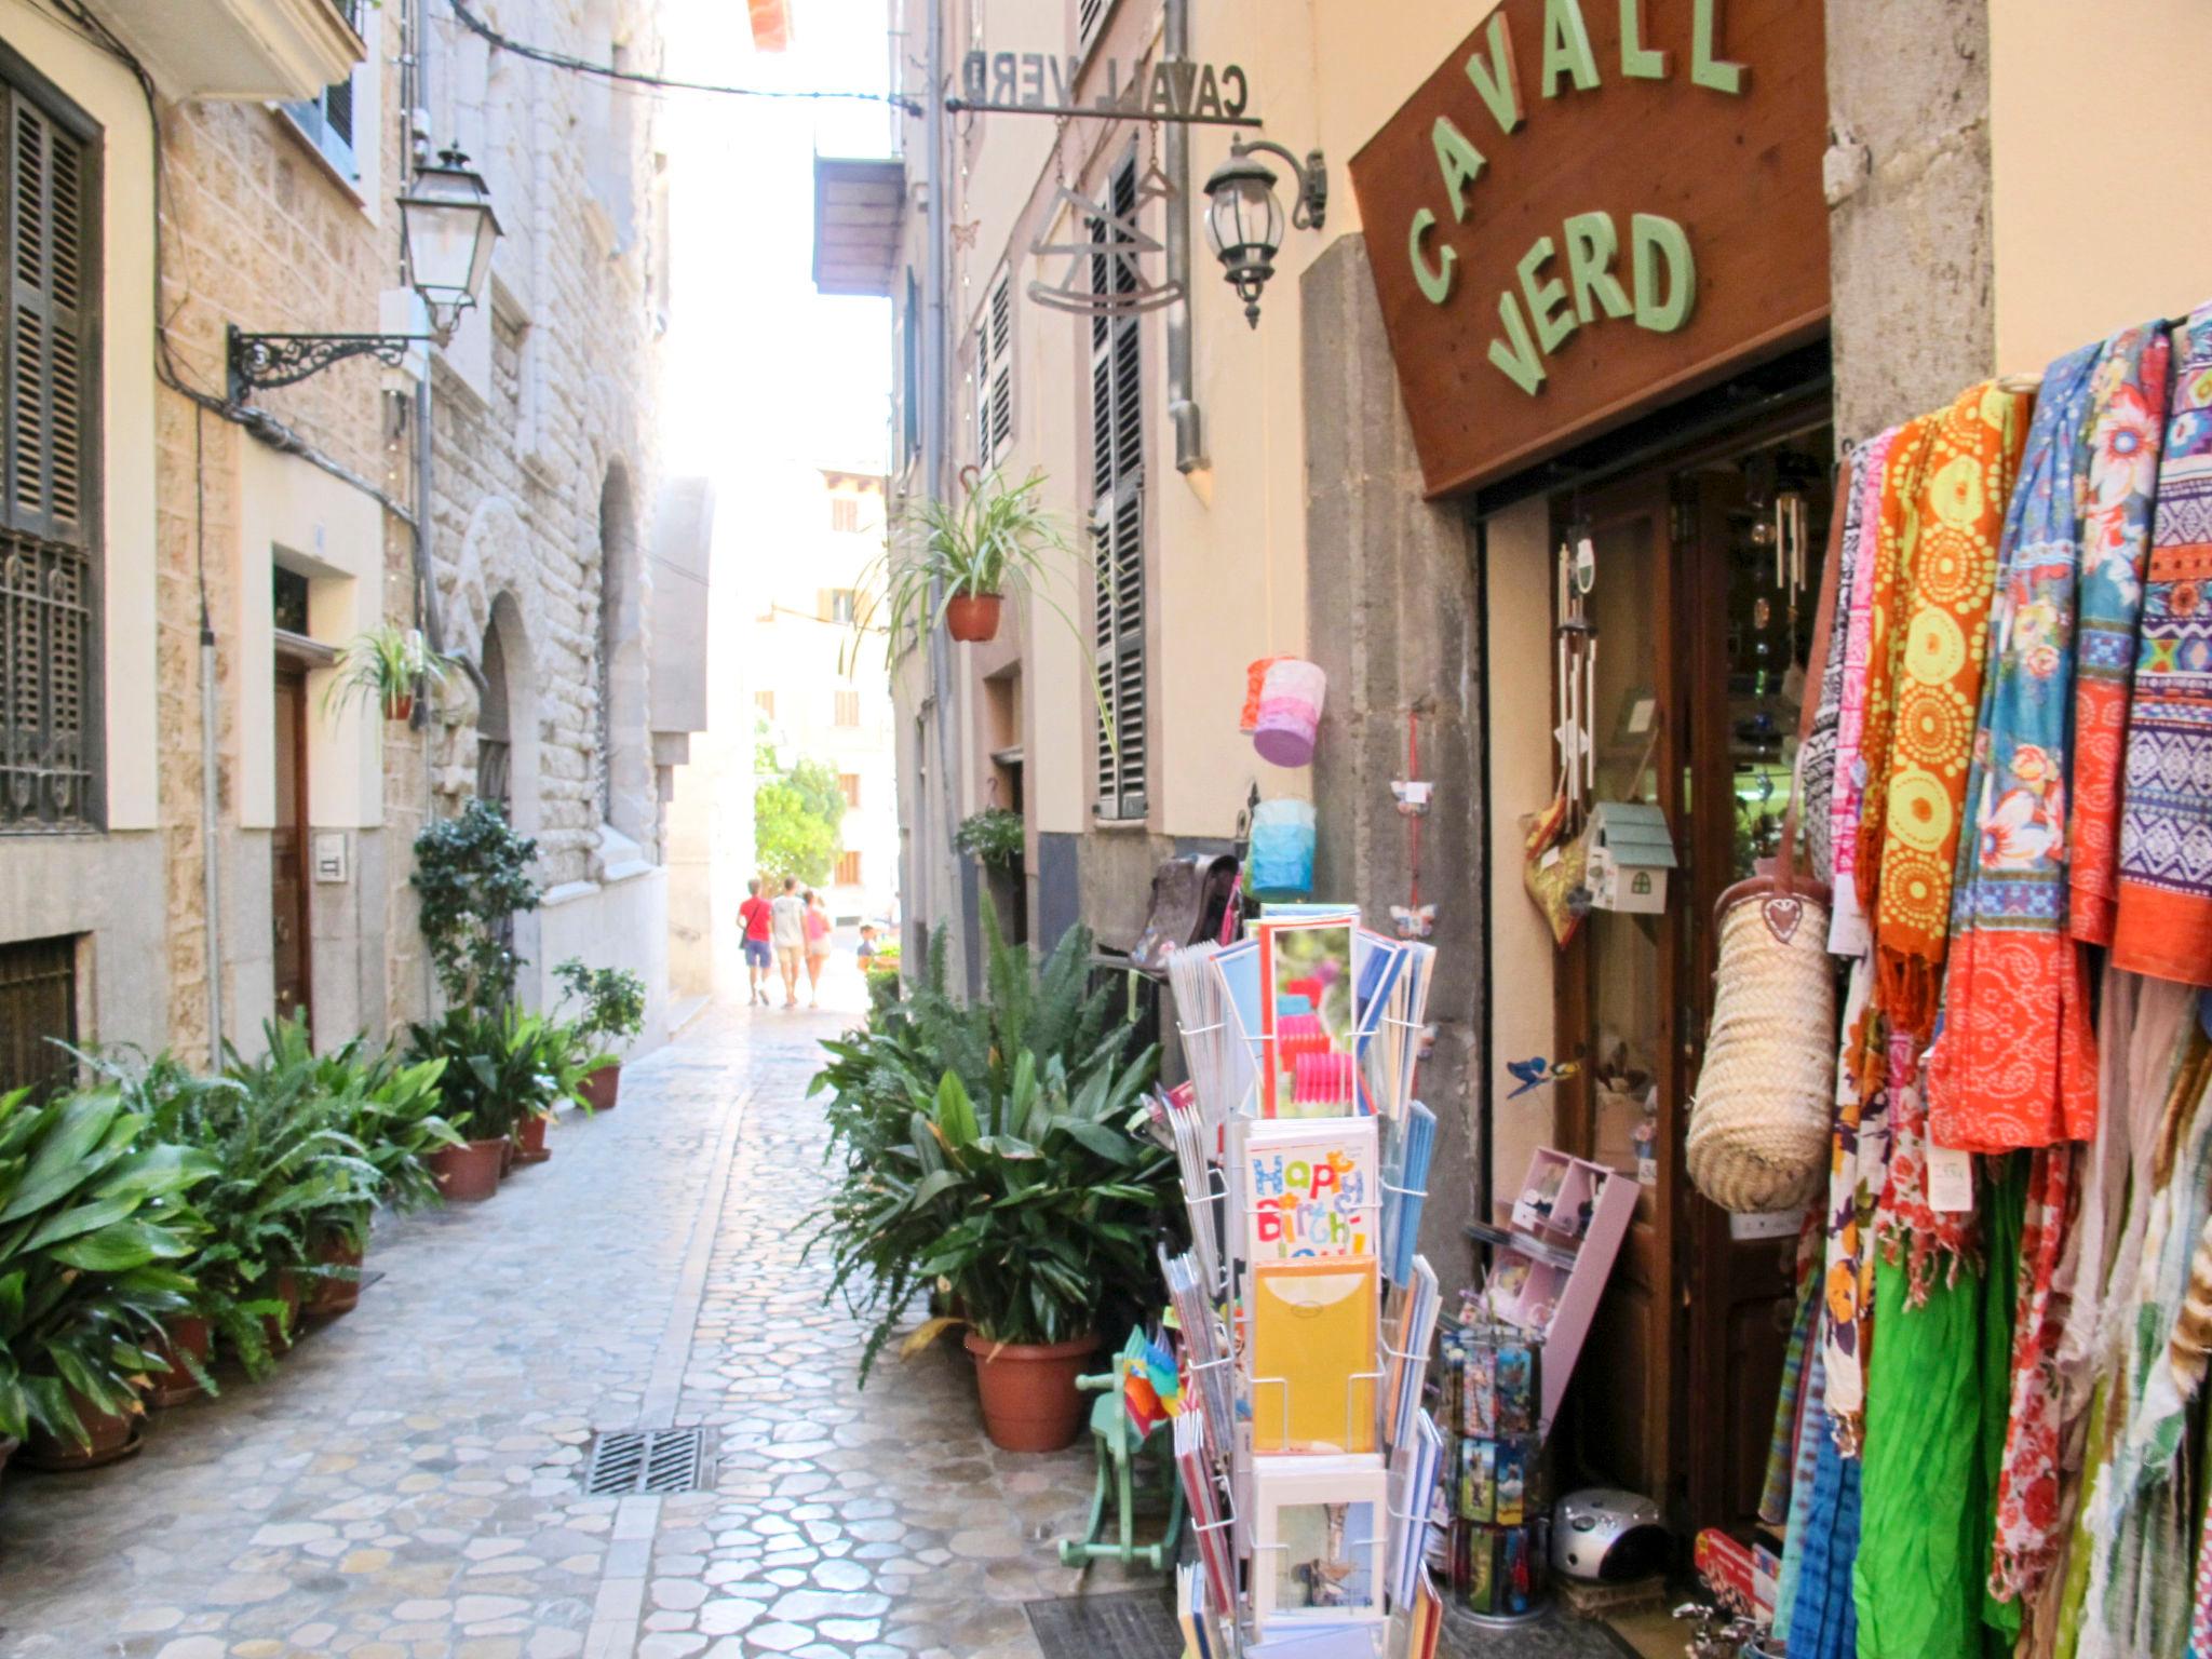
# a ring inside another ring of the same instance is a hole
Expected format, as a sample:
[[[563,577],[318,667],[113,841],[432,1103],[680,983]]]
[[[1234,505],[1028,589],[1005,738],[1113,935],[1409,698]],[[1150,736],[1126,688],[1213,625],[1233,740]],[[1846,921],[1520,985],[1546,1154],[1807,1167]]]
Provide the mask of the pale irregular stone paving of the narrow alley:
[[[0,1659],[1033,1659],[1091,1453],[995,1451],[956,1343],[860,1394],[799,1261],[805,1079],[849,1018],[708,1011],[551,1164],[383,1228],[385,1276],[272,1380],[113,1469],[9,1473]],[[582,1495],[593,1431],[670,1425],[714,1431],[712,1491]]]

